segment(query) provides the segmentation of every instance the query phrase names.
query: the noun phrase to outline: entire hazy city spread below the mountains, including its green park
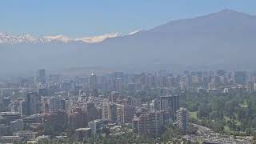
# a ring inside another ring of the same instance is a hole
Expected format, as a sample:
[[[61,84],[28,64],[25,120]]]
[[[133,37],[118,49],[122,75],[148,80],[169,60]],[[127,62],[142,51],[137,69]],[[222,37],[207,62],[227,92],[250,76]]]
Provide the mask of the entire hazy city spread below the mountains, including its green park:
[[[254,71],[34,75],[0,82],[0,143],[254,143]]]

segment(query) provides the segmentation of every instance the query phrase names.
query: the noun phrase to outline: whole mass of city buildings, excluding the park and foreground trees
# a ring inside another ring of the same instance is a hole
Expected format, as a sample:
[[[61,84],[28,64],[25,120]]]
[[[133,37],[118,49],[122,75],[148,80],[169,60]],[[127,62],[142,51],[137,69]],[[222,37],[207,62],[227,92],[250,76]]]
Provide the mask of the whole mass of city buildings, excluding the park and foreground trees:
[[[186,90],[232,89],[256,91],[256,72],[160,70],[65,78],[40,69],[34,78],[0,83],[0,136],[30,139],[66,131],[81,140],[130,123],[135,133],[158,137],[170,123],[188,129],[188,110],[180,107]],[[145,100],[145,90],[160,92]]]

